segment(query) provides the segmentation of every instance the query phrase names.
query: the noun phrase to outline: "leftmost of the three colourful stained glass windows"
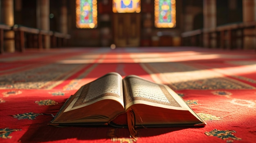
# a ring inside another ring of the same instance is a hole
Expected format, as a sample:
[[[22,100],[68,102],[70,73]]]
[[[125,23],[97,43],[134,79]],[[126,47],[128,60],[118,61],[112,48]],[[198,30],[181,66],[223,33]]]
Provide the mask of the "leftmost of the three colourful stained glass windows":
[[[97,27],[97,0],[76,0],[76,27]]]

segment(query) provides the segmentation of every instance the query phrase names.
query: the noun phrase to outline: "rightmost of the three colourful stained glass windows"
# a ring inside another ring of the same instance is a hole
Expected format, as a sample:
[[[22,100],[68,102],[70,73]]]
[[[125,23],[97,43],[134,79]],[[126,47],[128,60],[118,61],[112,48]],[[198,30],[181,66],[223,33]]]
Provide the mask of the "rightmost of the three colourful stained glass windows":
[[[155,27],[173,28],[176,26],[175,0],[155,0]]]

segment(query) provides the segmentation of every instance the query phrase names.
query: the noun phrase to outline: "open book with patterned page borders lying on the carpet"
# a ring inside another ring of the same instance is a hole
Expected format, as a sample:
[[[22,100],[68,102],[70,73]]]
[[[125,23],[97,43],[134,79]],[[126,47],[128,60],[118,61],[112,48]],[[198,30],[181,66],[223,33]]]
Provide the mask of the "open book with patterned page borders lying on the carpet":
[[[166,127],[206,125],[171,88],[108,73],[82,86],[50,125]]]

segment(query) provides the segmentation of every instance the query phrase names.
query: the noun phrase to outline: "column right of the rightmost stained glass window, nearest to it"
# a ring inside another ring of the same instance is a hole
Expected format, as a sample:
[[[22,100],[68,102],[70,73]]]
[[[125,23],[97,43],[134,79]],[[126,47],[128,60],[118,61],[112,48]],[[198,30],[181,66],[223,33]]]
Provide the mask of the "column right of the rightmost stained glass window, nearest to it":
[[[204,31],[216,28],[216,0],[203,1],[203,14],[204,14]],[[204,47],[216,48],[217,34],[215,32],[204,32],[203,45]]]

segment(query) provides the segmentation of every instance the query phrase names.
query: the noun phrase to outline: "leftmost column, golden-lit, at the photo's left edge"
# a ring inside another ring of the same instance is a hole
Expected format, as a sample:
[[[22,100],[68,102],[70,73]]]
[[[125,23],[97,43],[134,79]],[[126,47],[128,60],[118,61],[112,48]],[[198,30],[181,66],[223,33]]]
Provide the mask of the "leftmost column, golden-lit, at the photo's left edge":
[[[9,26],[14,25],[13,0],[1,0],[2,22]],[[15,52],[14,31],[4,32],[4,48],[6,52]]]

